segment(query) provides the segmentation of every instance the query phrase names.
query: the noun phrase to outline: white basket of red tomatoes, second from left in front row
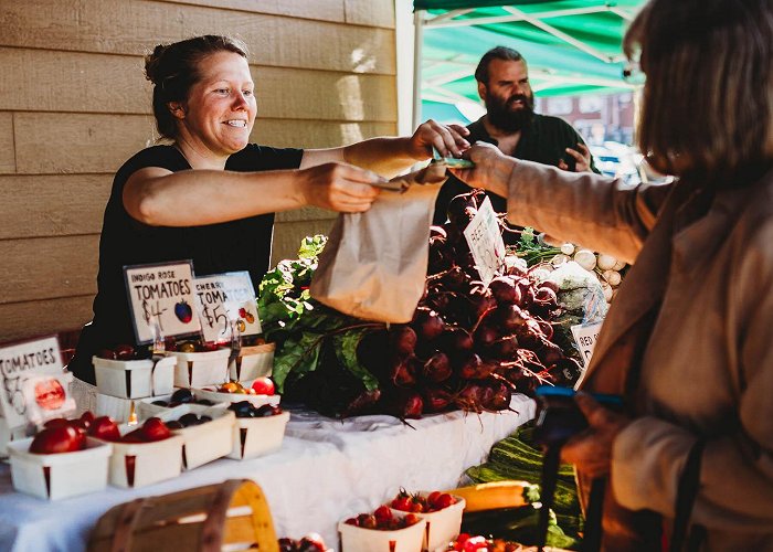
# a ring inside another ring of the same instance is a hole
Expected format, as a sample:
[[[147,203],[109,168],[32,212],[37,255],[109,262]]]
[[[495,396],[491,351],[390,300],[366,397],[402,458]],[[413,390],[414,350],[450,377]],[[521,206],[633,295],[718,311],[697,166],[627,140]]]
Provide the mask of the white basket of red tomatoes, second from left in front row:
[[[134,427],[121,426],[124,435]],[[172,435],[151,443],[113,443],[110,485],[137,488],[172,479],[182,471],[183,438]]]

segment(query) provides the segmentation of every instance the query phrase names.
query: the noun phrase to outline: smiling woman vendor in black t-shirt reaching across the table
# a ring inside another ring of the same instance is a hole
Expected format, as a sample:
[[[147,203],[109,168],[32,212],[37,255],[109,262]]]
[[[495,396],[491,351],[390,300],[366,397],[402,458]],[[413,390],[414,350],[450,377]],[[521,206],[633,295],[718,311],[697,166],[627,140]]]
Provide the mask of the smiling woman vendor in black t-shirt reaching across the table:
[[[421,125],[412,137],[373,138],[331,149],[250,144],[257,105],[246,47],[226,36],[156,46],[146,57],[153,115],[171,144],[135,155],[116,173],[105,209],[94,320],[70,369],[94,381],[92,354],[134,342],[123,267],[192,259],[198,275],[269,262],[274,212],[315,205],[367,211],[370,184],[431,157],[458,156],[464,127]]]

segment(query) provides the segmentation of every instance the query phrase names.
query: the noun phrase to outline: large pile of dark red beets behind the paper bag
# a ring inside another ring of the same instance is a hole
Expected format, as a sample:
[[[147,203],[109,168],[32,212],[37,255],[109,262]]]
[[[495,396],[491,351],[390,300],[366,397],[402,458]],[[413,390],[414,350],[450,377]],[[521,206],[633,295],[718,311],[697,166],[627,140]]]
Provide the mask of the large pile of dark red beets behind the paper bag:
[[[551,341],[561,314],[554,284],[518,266],[480,282],[464,230],[484,198],[481,190],[457,195],[448,222],[432,227],[426,293],[413,320],[361,342],[359,357],[380,382],[373,410],[401,418],[500,411],[513,391],[571,385],[580,375]]]

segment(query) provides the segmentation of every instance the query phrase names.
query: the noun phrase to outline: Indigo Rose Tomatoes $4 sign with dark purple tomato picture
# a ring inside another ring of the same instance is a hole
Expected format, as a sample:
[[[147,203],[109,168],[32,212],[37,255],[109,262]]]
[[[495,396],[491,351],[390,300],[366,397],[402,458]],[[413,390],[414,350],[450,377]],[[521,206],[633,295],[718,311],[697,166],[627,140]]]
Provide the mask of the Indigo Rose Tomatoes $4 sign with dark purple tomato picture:
[[[125,266],[126,291],[138,343],[201,331],[193,312],[193,266],[190,261]]]

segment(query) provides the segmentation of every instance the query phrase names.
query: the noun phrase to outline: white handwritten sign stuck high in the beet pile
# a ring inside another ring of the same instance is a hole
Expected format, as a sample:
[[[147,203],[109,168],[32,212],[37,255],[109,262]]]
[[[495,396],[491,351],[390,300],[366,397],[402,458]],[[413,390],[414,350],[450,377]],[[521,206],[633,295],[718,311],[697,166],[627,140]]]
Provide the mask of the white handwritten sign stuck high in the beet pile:
[[[505,242],[491,201],[486,198],[464,231],[480,279],[488,284],[505,263]]]

